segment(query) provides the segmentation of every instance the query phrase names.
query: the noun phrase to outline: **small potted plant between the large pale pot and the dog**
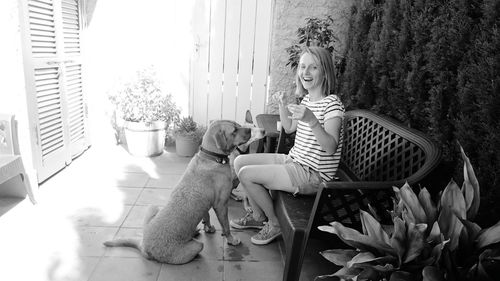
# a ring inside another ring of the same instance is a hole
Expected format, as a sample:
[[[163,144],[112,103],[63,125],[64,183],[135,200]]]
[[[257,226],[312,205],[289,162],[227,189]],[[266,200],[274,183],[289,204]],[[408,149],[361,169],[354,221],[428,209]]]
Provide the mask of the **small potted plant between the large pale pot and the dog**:
[[[177,155],[193,156],[198,151],[206,130],[205,126],[196,124],[191,116],[180,119],[174,131]]]

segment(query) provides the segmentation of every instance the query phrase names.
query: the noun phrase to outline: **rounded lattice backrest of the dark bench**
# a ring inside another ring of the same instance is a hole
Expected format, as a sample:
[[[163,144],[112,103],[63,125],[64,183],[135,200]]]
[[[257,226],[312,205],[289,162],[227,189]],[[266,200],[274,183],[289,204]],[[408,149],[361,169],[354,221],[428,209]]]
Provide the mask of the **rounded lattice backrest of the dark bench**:
[[[438,164],[438,147],[423,133],[367,110],[346,112],[342,163],[362,181],[409,183]]]

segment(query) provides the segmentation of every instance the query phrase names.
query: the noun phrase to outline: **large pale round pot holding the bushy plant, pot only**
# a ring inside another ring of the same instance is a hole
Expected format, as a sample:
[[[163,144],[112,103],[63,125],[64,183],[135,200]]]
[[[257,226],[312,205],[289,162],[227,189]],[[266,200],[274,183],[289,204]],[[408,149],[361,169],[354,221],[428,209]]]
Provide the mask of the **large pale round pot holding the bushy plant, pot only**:
[[[128,152],[134,156],[158,156],[163,153],[167,123],[164,121],[127,122],[125,138]]]

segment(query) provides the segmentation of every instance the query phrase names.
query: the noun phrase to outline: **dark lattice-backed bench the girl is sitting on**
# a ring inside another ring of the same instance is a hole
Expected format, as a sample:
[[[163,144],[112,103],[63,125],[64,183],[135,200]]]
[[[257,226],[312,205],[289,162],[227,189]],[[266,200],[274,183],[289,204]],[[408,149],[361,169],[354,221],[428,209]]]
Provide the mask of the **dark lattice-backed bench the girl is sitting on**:
[[[292,144],[293,137],[282,129],[277,152],[287,153]],[[420,182],[440,156],[438,147],[416,130],[366,110],[346,112],[338,179],[323,183],[315,196],[272,192],[286,251],[283,280],[299,280],[310,235],[335,242],[332,247],[346,247],[317,226],[339,221],[361,230],[359,210],[367,210],[368,203],[388,219],[392,186]]]

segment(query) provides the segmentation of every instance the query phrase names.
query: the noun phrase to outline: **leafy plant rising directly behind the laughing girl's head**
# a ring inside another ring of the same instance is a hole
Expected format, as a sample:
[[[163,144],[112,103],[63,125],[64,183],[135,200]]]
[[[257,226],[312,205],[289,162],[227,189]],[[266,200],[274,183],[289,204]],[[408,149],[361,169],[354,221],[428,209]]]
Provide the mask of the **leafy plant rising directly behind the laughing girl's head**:
[[[318,46],[326,48],[333,53],[334,44],[338,41],[337,36],[332,29],[334,21],[331,16],[323,19],[306,18],[306,25],[297,29],[297,38],[293,45],[286,48],[288,53],[287,66],[295,71],[299,64],[300,54],[304,46]]]

